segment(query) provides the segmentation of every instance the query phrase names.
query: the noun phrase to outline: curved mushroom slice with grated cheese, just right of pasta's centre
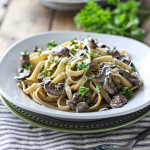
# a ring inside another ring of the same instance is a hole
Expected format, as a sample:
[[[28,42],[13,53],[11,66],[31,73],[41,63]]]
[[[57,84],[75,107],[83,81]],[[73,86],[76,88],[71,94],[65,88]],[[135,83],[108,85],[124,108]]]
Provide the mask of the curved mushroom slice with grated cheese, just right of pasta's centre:
[[[110,65],[109,64],[101,64],[100,67],[102,67],[102,71],[100,75],[93,77],[93,79],[96,82],[103,83],[105,78],[109,76],[110,73]]]

